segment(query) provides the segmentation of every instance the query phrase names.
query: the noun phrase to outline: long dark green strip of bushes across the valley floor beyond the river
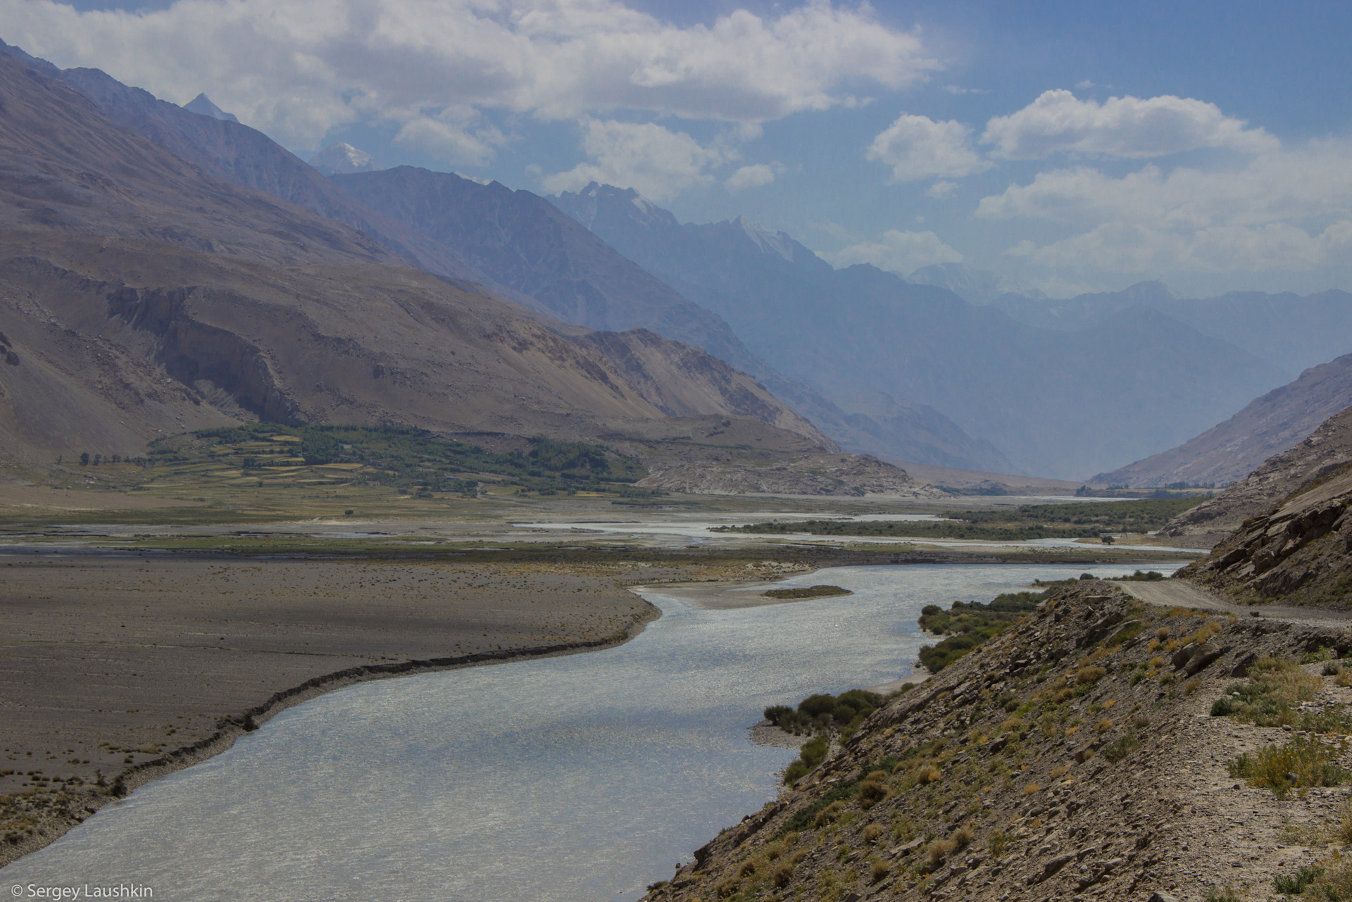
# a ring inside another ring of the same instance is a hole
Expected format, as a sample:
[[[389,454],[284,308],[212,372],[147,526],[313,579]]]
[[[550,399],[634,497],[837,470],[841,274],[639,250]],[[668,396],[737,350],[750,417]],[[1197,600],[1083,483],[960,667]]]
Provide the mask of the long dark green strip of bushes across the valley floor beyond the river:
[[[1033,538],[1095,538],[1105,533],[1146,533],[1159,529],[1203,498],[1152,498],[1138,502],[1025,504],[1015,510],[963,511],[942,521],[810,519],[749,526],[719,526],[725,533],[811,533],[813,536],[898,536],[1026,541]]]

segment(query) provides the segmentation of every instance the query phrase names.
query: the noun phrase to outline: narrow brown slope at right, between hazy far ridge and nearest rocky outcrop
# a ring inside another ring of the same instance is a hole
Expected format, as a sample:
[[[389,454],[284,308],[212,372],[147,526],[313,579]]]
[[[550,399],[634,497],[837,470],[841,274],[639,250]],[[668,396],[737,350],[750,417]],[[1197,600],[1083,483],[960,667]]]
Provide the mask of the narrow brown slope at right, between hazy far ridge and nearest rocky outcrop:
[[[1311,480],[1318,480],[1352,461],[1352,408],[1334,414],[1303,442],[1274,454],[1248,477],[1215,498],[1174,518],[1165,536],[1214,537],[1271,508]]]

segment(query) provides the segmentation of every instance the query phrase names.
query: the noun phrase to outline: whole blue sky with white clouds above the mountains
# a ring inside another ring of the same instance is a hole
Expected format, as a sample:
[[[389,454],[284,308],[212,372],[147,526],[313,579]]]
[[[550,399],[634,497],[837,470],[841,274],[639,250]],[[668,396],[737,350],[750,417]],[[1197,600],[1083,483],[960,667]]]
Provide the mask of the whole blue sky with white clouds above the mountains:
[[[0,38],[297,151],[595,177],[837,265],[1352,289],[1347,3],[0,0]]]

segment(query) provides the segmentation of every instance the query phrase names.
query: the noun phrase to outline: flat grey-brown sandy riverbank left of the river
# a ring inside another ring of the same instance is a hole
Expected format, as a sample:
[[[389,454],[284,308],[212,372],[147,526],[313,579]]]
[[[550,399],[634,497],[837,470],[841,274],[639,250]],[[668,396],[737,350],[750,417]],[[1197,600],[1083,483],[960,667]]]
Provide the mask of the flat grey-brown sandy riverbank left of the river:
[[[322,692],[660,615],[599,567],[26,553],[0,577],[0,864]]]

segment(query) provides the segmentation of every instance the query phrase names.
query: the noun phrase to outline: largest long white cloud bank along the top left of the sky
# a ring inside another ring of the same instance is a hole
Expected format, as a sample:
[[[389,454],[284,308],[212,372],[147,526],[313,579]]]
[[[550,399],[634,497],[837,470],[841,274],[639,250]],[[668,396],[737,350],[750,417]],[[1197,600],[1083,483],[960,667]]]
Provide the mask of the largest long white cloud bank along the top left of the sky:
[[[859,88],[900,89],[938,69],[918,34],[829,0],[688,27],[619,0],[177,0],[88,12],[0,0],[0,32],[170,100],[208,89],[295,146],[391,110],[429,111],[407,139],[437,146],[462,139],[435,124],[457,107],[756,123],[853,105]]]

